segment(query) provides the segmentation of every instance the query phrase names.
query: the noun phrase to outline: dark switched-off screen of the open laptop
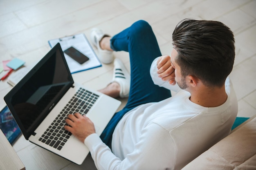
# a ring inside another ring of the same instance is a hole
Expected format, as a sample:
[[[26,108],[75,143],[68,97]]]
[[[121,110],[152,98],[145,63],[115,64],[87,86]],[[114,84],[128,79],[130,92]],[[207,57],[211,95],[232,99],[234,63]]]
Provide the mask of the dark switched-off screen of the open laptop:
[[[13,110],[13,116],[19,117],[26,132],[33,132],[73,83],[57,44],[13,87],[9,101],[13,108],[10,110]]]

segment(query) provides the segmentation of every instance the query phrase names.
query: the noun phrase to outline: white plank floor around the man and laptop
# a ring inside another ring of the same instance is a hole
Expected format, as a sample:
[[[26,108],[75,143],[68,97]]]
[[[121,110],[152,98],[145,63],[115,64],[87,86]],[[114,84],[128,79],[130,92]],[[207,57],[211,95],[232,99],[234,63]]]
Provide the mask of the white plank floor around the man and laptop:
[[[236,60],[230,75],[238,97],[238,116],[256,114],[256,0],[1,0],[0,62],[18,57],[26,66],[40,60],[50,47],[48,40],[85,33],[99,27],[115,33],[137,20],[146,20],[155,31],[162,54],[171,54],[171,34],[180,20],[219,20],[231,28],[236,39]],[[115,52],[129,69],[125,52]],[[75,81],[99,89],[112,79],[112,64],[73,74]],[[11,89],[0,82],[0,107]],[[126,99],[122,99],[123,105]],[[121,107],[120,107],[121,108]],[[14,145],[27,170],[88,169],[76,166],[23,137]],[[29,155],[44,155],[43,160]],[[50,155],[50,158],[47,158]],[[26,158],[25,158],[26,157]],[[48,163],[46,163],[46,162]]]

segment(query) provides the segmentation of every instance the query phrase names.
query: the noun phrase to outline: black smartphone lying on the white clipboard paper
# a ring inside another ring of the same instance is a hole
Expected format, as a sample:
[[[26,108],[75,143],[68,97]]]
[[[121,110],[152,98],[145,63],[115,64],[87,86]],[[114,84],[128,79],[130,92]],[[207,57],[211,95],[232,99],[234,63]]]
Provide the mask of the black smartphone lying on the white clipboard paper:
[[[70,56],[72,59],[74,59],[76,62],[79,62],[79,64],[83,64],[84,62],[87,62],[89,58],[85,56],[83,53],[75,49],[73,46],[66,49],[64,51],[68,56]]]

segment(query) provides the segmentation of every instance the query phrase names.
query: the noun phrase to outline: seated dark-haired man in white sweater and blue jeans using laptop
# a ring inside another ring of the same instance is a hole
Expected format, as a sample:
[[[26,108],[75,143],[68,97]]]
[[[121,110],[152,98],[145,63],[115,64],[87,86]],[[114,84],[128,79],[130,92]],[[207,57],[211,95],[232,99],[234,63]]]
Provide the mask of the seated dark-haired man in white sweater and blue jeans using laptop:
[[[66,119],[71,127],[65,129],[88,146],[99,170],[178,170],[229,135],[237,99],[227,78],[235,57],[227,26],[182,20],[173,32],[171,57],[161,55],[142,20],[112,38],[97,29],[92,35],[101,61],[112,62],[113,50],[128,51],[131,67],[129,75],[116,59],[112,83],[100,90],[129,95],[101,137],[88,117],[75,113]]]

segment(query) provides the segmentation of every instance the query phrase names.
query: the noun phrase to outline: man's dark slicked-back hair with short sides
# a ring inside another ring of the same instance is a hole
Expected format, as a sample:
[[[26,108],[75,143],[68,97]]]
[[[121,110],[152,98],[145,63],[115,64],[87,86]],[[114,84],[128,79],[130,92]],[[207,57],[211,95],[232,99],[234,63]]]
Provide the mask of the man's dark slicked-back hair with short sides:
[[[233,32],[218,21],[185,19],[173,31],[176,62],[183,77],[193,75],[206,86],[222,86],[235,59]]]

